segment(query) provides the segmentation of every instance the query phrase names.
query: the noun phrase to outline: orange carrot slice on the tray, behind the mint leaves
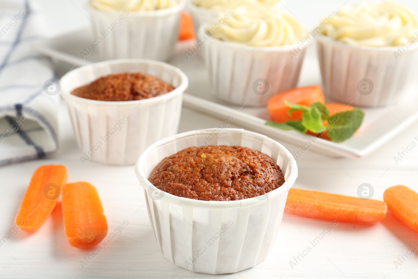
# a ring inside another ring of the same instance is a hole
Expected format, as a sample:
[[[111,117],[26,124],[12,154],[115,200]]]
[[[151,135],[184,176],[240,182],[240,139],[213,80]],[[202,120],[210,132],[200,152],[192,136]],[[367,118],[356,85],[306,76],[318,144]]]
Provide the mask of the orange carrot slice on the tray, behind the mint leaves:
[[[298,105],[310,106],[316,101],[325,102],[324,94],[318,85],[292,88],[271,97],[267,102],[267,110],[271,120],[283,123],[287,120],[301,120],[302,111],[294,111],[290,115],[290,108],[284,100]]]

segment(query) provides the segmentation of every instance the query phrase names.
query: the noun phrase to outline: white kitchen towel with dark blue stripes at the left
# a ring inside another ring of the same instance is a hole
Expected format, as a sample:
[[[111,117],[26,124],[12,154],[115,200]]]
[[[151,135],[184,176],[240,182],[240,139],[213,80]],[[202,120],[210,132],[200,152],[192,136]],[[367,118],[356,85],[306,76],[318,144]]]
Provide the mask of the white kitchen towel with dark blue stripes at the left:
[[[33,0],[0,0],[0,166],[58,148],[59,83],[51,61],[31,44],[46,24]]]

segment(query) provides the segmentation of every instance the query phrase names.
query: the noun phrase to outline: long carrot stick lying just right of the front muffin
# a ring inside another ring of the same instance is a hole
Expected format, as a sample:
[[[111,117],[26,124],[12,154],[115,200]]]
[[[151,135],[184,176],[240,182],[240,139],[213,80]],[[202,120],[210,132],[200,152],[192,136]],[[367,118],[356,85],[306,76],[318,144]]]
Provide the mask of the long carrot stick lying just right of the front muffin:
[[[386,215],[386,203],[358,197],[291,188],[285,210],[311,218],[343,222],[377,222]]]

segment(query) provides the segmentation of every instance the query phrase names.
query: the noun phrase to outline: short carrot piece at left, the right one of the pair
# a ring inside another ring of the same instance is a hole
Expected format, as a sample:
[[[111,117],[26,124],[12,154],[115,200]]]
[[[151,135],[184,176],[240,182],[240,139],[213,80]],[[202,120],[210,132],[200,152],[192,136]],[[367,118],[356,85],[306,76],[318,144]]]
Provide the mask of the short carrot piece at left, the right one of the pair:
[[[71,246],[89,249],[107,234],[106,216],[96,188],[88,182],[65,184],[62,189],[62,216]]]

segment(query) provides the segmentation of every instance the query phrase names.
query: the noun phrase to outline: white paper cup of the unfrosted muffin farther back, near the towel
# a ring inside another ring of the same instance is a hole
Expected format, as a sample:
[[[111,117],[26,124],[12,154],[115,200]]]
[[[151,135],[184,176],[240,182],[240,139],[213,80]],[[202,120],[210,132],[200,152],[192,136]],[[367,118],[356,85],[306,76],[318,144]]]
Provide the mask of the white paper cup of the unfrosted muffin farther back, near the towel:
[[[175,89],[148,99],[122,102],[89,100],[70,93],[99,77],[125,72],[154,75]],[[120,59],[74,69],[64,75],[60,83],[60,94],[66,101],[82,153],[90,154],[93,150],[92,161],[125,165],[134,164],[151,143],[177,133],[183,92],[189,81],[180,69],[164,62]]]

